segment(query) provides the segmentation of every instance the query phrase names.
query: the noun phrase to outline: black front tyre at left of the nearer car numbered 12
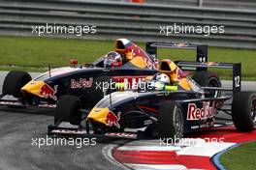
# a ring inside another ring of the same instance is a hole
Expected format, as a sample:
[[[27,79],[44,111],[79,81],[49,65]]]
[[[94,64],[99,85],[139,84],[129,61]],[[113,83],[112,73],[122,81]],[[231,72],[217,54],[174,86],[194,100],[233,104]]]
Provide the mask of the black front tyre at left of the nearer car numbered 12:
[[[75,96],[64,95],[57,101],[54,115],[54,125],[61,122],[69,122],[72,125],[80,125],[80,99]]]

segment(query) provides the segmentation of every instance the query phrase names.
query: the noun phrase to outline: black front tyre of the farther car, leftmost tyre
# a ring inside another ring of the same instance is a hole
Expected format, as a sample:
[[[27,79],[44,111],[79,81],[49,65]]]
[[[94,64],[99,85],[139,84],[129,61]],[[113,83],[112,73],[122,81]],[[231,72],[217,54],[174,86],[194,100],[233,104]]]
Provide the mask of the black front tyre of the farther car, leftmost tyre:
[[[10,71],[4,80],[2,93],[19,98],[20,89],[31,80],[31,76],[25,71]]]

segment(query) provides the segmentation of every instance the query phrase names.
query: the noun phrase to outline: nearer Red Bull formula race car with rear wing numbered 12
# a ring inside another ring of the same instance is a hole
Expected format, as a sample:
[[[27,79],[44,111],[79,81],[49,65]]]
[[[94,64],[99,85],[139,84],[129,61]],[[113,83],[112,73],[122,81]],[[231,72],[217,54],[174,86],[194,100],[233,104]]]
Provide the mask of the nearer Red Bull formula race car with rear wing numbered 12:
[[[221,87],[217,74],[208,68],[232,69],[232,89]],[[189,77],[185,70],[195,72]],[[140,84],[135,91],[111,93],[91,110],[82,107],[77,97],[61,97],[48,134],[161,137],[166,141],[214,127],[220,112],[231,115],[240,131],[254,128],[256,93],[240,92],[239,63],[163,60],[159,72]]]

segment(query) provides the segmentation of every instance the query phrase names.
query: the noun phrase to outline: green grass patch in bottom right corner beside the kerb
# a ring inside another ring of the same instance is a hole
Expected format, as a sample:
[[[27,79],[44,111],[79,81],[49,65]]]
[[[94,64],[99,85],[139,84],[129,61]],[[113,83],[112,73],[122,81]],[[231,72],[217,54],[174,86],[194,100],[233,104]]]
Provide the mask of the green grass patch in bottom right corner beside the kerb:
[[[232,149],[220,157],[220,162],[226,169],[255,170],[256,142],[245,143]]]

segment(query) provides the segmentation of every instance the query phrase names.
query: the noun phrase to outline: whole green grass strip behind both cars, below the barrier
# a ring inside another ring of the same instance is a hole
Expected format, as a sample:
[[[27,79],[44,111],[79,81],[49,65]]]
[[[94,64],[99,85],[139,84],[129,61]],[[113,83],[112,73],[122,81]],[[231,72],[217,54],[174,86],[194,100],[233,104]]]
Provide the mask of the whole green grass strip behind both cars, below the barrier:
[[[144,43],[138,45],[144,48]],[[72,58],[80,64],[90,63],[114,49],[114,42],[76,39],[0,37],[0,70],[46,71],[52,67],[69,65]],[[172,60],[195,60],[194,50],[161,49],[158,56]],[[247,80],[256,80],[256,50],[209,47],[208,60],[242,63],[242,75]],[[12,67],[13,66],[13,67]],[[16,68],[17,67],[17,68]],[[232,71],[218,71],[228,77]]]

